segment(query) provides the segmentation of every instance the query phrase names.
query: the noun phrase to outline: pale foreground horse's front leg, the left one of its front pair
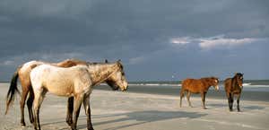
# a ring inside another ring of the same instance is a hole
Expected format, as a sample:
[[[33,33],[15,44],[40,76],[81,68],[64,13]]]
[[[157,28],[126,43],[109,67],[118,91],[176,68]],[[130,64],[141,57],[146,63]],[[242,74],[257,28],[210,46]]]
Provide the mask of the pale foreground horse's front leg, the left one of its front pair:
[[[77,118],[80,116],[81,106],[82,106],[82,96],[77,95],[74,97],[74,119],[73,119],[73,125],[71,126],[72,130],[76,130]]]

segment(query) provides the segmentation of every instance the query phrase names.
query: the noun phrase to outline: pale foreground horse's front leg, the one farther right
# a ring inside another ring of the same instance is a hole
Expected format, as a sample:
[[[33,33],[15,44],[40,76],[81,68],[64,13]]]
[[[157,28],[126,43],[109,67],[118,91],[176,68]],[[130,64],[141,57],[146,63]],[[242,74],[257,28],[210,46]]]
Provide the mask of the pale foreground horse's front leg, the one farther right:
[[[91,124],[90,95],[84,96],[83,105],[84,105],[85,113],[86,113],[86,116],[87,116],[87,128],[88,128],[88,130],[93,130],[93,127],[92,127],[92,124]]]

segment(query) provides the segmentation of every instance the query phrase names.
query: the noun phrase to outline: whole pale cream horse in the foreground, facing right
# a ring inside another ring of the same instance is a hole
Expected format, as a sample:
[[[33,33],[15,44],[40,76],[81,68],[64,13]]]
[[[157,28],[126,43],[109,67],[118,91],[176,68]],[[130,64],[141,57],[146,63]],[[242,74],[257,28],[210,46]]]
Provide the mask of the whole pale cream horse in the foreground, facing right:
[[[118,73],[120,72],[120,73]],[[112,74],[117,73],[123,82],[121,91],[127,90],[126,77],[123,65],[117,61],[111,64],[89,64],[76,65],[69,68],[57,67],[54,65],[39,65],[30,72],[30,82],[34,91],[34,127],[40,129],[39,108],[49,91],[58,96],[74,97],[74,122],[72,129],[76,129],[77,118],[83,102],[87,115],[87,127],[93,129],[91,125],[90,94],[92,86],[107,80]]]

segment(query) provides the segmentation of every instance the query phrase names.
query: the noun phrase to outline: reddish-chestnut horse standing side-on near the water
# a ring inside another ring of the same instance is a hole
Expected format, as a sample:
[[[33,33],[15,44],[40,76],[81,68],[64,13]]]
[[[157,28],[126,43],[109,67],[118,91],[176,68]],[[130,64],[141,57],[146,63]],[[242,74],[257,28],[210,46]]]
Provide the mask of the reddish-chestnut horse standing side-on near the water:
[[[187,101],[188,106],[192,107],[189,100],[191,93],[200,93],[202,98],[202,108],[205,108],[205,94],[208,91],[209,87],[214,86],[216,91],[219,91],[219,79],[216,77],[205,77],[201,79],[185,79],[182,82],[182,87],[180,91],[180,108],[182,106],[182,98],[184,97],[185,91],[187,91]]]

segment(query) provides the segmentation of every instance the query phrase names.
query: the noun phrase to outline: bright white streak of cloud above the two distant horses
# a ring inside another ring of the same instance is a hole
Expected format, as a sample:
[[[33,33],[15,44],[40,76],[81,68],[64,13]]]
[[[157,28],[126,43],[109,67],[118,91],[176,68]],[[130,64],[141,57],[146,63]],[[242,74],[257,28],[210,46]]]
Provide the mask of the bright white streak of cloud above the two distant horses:
[[[217,35],[209,38],[193,38],[193,37],[179,37],[169,39],[170,43],[178,45],[196,44],[202,49],[213,49],[213,48],[234,48],[242,46],[248,43],[254,43],[260,40],[258,38],[242,38],[232,39],[225,38],[225,35]]]

